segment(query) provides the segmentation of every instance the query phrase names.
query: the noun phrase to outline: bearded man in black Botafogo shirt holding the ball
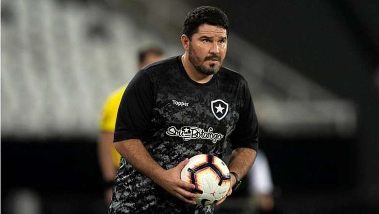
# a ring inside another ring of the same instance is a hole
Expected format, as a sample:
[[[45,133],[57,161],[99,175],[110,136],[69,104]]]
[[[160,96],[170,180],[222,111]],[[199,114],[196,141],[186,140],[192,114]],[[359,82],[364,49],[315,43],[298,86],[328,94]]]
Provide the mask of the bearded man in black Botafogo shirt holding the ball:
[[[232,187],[253,165],[258,148],[253,101],[244,78],[222,67],[228,27],[216,7],[190,11],[181,36],[185,53],[145,67],[125,90],[115,127],[122,159],[111,214],[213,213],[213,206],[194,205],[195,186],[180,180],[188,158],[208,153],[222,159],[231,143]]]

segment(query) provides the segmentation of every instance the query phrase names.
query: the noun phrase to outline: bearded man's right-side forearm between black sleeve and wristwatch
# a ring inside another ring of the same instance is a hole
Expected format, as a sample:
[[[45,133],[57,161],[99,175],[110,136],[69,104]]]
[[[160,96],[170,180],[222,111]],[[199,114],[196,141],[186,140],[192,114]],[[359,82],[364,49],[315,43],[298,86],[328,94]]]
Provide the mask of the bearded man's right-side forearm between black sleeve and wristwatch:
[[[237,148],[233,150],[229,162],[229,171],[237,173],[238,177],[242,179],[246,173],[253,166],[257,152],[250,148]]]

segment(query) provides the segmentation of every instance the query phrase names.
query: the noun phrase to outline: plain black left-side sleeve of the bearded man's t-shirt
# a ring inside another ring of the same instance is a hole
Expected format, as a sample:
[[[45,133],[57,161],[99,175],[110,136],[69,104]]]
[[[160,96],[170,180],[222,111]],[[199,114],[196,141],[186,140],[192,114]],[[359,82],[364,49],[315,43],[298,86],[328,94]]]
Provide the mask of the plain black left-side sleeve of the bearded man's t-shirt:
[[[122,95],[115,126],[114,142],[142,140],[155,104],[154,90],[146,71],[139,71]]]

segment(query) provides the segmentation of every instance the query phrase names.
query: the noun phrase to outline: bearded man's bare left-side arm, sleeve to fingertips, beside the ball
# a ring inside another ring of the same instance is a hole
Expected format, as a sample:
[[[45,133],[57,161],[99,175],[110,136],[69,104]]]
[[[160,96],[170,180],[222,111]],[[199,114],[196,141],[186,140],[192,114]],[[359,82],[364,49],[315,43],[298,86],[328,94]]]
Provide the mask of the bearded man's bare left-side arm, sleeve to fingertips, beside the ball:
[[[151,157],[150,153],[143,146],[141,140],[130,139],[115,142],[116,150],[130,163],[135,169],[149,177],[154,183],[161,186],[178,199],[190,204],[196,204],[191,197],[196,197],[189,190],[195,188],[194,185],[182,181],[180,172],[189,162],[188,159],[182,161],[177,166],[164,169]]]

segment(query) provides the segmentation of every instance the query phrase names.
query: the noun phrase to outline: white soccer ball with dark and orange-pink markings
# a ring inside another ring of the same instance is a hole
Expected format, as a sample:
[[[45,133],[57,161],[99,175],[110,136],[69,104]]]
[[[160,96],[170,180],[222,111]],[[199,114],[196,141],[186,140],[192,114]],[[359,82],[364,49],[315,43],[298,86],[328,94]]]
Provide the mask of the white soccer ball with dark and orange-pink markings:
[[[197,204],[207,206],[216,203],[228,193],[230,174],[228,166],[214,155],[201,154],[190,158],[182,169],[180,178],[195,185]]]

